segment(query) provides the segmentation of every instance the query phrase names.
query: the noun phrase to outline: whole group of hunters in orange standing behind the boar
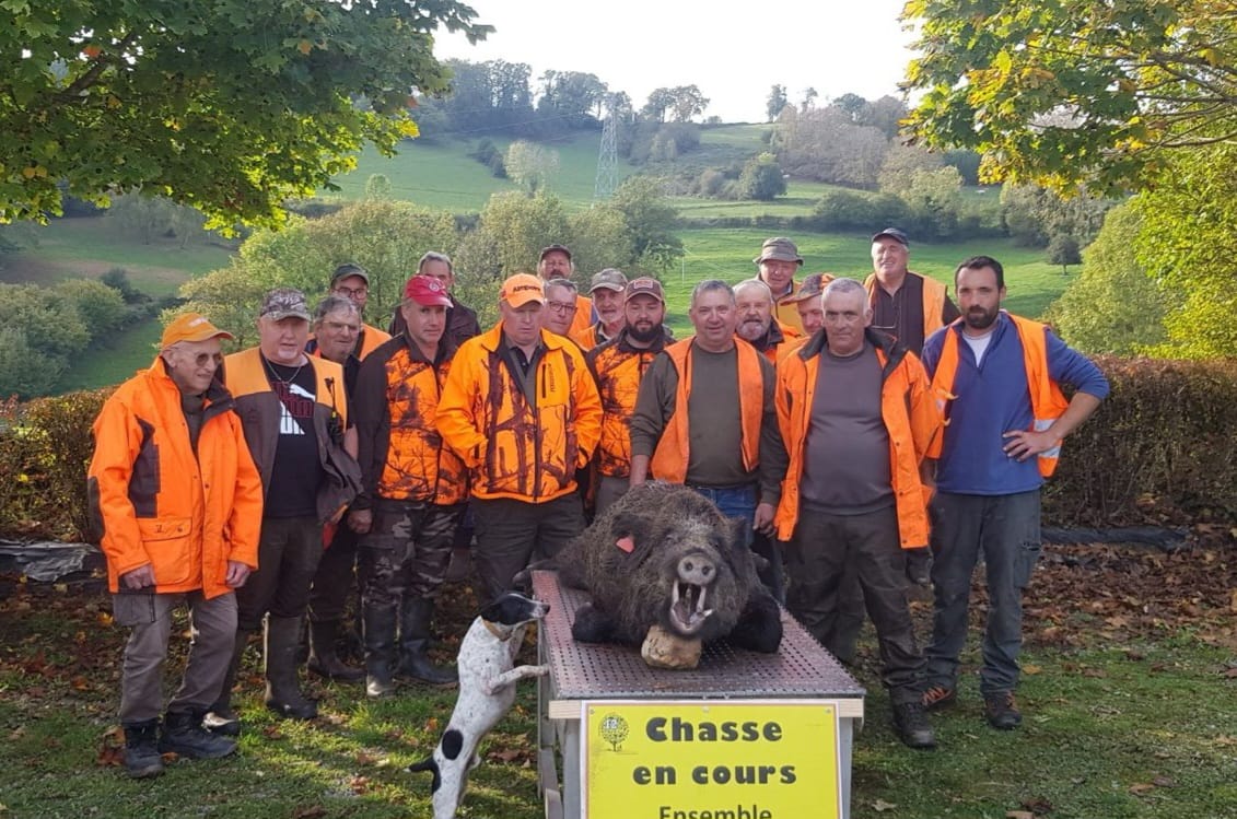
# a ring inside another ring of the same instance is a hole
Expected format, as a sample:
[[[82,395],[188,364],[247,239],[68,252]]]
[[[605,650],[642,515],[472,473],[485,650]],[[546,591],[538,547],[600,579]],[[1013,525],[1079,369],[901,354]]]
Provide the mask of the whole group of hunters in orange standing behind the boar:
[[[308,669],[369,697],[396,679],[452,684],[428,648],[455,544],[471,543],[491,599],[646,480],[747,522],[761,579],[844,663],[871,619],[912,747],[935,746],[927,711],[957,697],[982,560],[980,694],[993,727],[1017,727],[1040,486],[1108,385],[1049,328],[1001,309],[997,260],[960,264],[950,298],[908,270],[909,246],[888,228],[865,281],[799,278],[794,242],[768,239],[753,277],[696,285],[684,340],[656,278],[606,268],[580,293],[563,245],[502,283],[484,332],[439,252],[408,278],[390,332],[365,323],[369,273],[351,264],[314,309],[270,291],[257,346],[228,356],[226,330],[178,317],[94,423],[92,512],[115,621],[131,630],[127,772],[235,750],[231,697],[256,635],[266,705],[285,718],[318,713],[299,683],[306,631]],[[336,653],[354,577],[364,669]],[[934,594],[925,650],[914,584]],[[165,706],[182,604],[192,642]]]

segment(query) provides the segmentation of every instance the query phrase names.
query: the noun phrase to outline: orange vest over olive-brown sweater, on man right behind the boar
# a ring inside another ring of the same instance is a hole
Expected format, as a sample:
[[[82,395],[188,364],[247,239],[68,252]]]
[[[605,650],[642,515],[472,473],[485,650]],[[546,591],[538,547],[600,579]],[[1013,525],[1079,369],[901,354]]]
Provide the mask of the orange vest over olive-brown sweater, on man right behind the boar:
[[[682,484],[688,474],[688,400],[691,396],[691,345],[694,339],[684,339],[666,348],[679,384],[674,391],[674,413],[662,431],[657,450],[649,461],[653,478],[672,484]],[[743,469],[753,471],[760,464],[761,416],[764,412],[764,379],[761,376],[760,353],[751,344],[735,343],[738,350],[738,417],[743,431],[741,452]]]

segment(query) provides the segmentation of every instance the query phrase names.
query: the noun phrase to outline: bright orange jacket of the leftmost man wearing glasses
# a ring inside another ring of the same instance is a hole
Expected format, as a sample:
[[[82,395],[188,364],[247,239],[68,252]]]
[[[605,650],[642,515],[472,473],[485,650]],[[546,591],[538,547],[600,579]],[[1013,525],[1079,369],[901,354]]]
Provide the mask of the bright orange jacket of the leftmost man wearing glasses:
[[[88,479],[113,593],[121,574],[150,564],[157,593],[200,589],[216,598],[231,591],[229,560],[257,568],[262,481],[233,406],[213,382],[194,455],[181,391],[162,359],[103,405]]]

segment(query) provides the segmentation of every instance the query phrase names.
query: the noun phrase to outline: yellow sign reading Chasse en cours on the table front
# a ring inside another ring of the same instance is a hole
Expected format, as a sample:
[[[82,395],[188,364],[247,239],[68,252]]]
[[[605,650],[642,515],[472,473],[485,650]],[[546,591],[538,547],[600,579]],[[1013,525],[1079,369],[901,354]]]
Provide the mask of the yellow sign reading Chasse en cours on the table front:
[[[586,701],[589,819],[836,819],[837,704]]]

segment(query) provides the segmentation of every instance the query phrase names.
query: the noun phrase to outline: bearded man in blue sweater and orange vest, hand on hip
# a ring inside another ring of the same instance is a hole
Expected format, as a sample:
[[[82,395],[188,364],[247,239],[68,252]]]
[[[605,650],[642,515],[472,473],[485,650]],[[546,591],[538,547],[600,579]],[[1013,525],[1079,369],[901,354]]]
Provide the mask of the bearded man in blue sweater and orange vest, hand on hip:
[[[1053,474],[1061,439],[1095,412],[1108,381],[1048,327],[1001,309],[1004,270],[975,256],[954,273],[962,320],[933,333],[924,366],[945,407],[931,502],[933,636],[927,708],[957,698],[966,643],[971,573],[978,557],[988,586],[980,693],[988,724],[1022,723],[1013,692],[1022,647],[1022,593],[1039,557],[1039,490]],[[1069,401],[1060,386],[1076,392]]]

